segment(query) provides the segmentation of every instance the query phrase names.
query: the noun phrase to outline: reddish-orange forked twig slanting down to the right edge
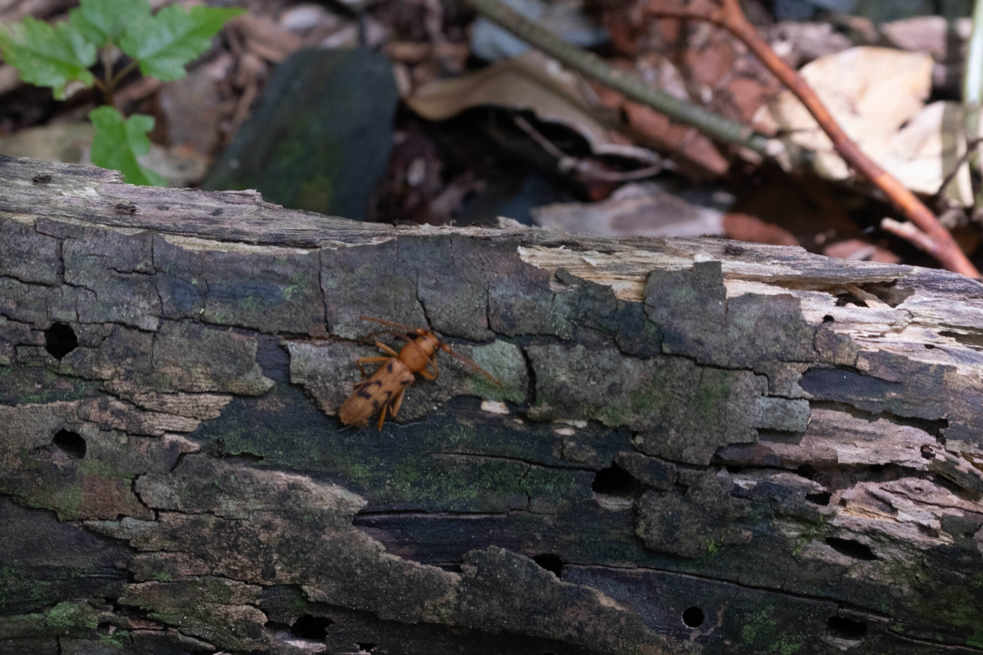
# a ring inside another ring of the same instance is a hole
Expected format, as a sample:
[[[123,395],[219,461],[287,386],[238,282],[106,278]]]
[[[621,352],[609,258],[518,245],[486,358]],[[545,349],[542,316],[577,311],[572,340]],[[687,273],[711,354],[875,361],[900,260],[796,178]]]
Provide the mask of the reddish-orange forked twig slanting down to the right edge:
[[[968,277],[979,278],[979,271],[976,270],[965,253],[959,249],[953,236],[943,227],[935,214],[918,199],[918,196],[878,166],[857,147],[857,144],[849,136],[846,136],[846,133],[842,131],[820,101],[816,92],[772,50],[768,42],[758,34],[758,30],[748,22],[740,9],[738,0],[720,0],[720,2],[721,8],[718,11],[706,15],[685,10],[665,11],[661,7],[651,6],[649,14],[663,18],[706,21],[723,27],[737,37],[805,105],[812,117],[816,119],[819,126],[833,141],[833,145],[840,156],[873,185],[884,191],[905,216],[918,227],[921,234],[924,235],[924,239],[920,239],[919,242],[912,241],[912,243],[927,251],[947,269]]]

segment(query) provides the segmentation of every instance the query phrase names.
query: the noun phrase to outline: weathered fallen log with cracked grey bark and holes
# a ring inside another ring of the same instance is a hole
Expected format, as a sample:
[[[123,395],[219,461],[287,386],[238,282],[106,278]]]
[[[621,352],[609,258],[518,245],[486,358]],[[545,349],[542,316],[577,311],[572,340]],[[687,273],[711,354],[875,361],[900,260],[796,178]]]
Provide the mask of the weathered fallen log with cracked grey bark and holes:
[[[342,429],[360,314],[503,388]],[[0,653],[979,653],[981,349],[941,271],[0,158]]]

